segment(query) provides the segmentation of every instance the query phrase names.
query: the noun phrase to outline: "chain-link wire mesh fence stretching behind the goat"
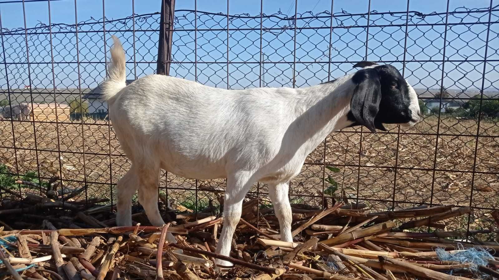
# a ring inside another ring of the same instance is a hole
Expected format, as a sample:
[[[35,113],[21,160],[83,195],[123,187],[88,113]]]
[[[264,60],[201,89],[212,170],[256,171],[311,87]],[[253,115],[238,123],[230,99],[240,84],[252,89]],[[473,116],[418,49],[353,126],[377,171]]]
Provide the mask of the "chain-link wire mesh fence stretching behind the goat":
[[[455,204],[473,211],[446,221],[449,230],[491,226],[499,206],[498,6],[450,10],[448,3],[426,14],[332,10],[176,10],[171,75],[228,89],[306,87],[352,73],[358,61],[392,64],[416,89],[424,120],[386,133],[331,134],[290,183],[291,202],[348,200],[373,210]],[[82,198],[115,201],[113,186],[130,164],[98,100],[110,37],[123,42],[133,81],[155,72],[159,22],[152,13],[1,28],[2,198],[5,189],[42,192],[12,183],[14,177],[40,185],[58,177],[68,188],[87,186]],[[29,113],[14,112],[22,104]],[[198,211],[217,208],[225,186],[160,176],[162,196]],[[249,195],[266,191],[256,184]]]

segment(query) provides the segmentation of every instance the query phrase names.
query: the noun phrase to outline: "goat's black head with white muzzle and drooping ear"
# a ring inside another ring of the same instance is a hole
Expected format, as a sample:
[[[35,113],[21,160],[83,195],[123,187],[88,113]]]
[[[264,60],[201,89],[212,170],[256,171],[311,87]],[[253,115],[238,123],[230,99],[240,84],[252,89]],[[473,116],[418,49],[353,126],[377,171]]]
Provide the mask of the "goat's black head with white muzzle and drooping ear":
[[[355,84],[348,119],[376,133],[383,124],[414,126],[421,115],[416,92],[391,65],[362,61],[352,77]]]

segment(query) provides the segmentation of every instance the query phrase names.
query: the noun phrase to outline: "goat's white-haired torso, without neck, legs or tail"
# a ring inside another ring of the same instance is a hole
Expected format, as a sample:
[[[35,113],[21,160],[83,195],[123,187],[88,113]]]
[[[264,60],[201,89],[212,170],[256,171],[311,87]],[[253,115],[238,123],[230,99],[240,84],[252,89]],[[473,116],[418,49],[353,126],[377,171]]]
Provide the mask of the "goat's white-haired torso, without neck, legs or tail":
[[[225,90],[151,75],[110,104],[113,127],[132,161],[160,157],[162,168],[191,178],[226,177],[227,166],[265,163],[291,122],[292,89]],[[195,174],[194,174],[195,172]]]

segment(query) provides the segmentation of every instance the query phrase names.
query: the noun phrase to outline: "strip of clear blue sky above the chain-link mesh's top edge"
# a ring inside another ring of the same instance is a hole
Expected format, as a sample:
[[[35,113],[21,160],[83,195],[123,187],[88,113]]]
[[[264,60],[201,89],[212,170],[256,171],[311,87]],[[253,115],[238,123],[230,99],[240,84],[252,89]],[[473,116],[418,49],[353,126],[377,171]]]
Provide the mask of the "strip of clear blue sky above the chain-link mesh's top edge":
[[[0,0],[2,1],[7,0]],[[84,20],[93,16],[102,17],[102,0],[77,0],[78,18]],[[263,13],[274,13],[277,10],[294,13],[294,0],[264,0]],[[334,0],[334,12],[344,9],[350,13],[367,12],[368,0]],[[51,17],[54,23],[74,23],[74,0],[51,1]],[[226,0],[198,0],[198,10],[211,12],[226,12]],[[432,11],[445,11],[446,0],[412,0],[409,9],[430,13]],[[450,10],[457,7],[488,7],[488,0],[451,0]],[[39,21],[48,22],[48,8],[46,2],[26,2],[27,26],[34,26]],[[159,11],[161,0],[135,0],[135,13],[151,13]],[[22,3],[4,3],[0,6],[2,12],[2,25],[7,28],[21,27],[23,25]],[[298,12],[311,10],[320,12],[330,10],[330,0],[298,0]],[[388,3],[386,0],[371,0],[371,10],[378,11],[405,11],[407,1],[395,0]],[[175,9],[194,9],[194,0],[177,0]],[[260,12],[259,0],[230,0],[229,13],[250,13],[256,15]],[[105,13],[108,18],[119,18],[131,15],[132,0],[105,0]]]

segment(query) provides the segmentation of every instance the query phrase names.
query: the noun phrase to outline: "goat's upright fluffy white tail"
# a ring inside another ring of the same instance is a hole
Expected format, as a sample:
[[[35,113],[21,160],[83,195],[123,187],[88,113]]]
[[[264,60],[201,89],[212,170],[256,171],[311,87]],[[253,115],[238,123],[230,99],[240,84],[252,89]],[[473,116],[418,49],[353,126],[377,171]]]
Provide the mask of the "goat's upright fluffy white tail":
[[[115,35],[113,47],[111,48],[111,62],[107,65],[107,79],[102,82],[102,100],[112,101],[113,97],[124,87],[126,87],[126,59],[125,50],[120,40]]]

